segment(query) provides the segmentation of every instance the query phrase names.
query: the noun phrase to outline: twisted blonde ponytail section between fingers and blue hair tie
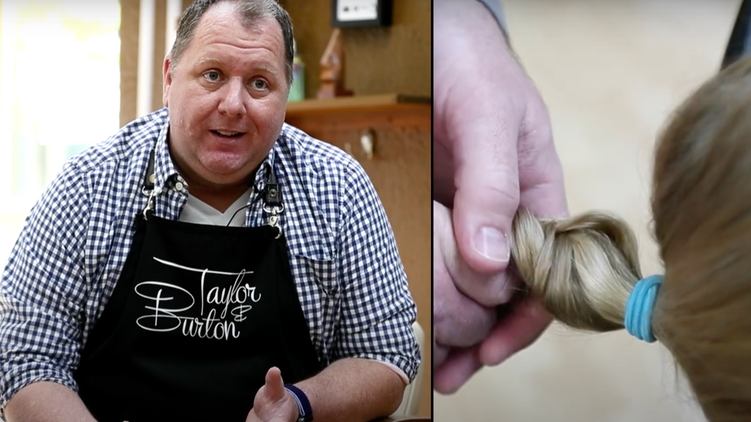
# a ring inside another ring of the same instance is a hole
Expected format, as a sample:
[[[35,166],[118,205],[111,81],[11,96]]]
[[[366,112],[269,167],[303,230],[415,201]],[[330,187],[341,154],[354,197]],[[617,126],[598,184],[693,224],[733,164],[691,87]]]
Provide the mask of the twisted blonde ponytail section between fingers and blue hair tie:
[[[626,222],[605,213],[538,219],[520,209],[513,233],[513,270],[553,318],[579,330],[623,328],[629,294],[641,279]]]

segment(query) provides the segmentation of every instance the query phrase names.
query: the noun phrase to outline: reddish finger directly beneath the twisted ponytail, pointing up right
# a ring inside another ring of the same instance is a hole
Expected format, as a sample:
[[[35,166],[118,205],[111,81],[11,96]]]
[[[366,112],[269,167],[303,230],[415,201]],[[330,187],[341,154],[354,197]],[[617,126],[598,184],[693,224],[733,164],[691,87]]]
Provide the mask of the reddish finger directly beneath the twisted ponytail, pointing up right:
[[[479,361],[483,365],[499,365],[535,342],[550,324],[550,314],[534,297],[524,296],[508,306],[508,314],[499,318],[479,347]]]

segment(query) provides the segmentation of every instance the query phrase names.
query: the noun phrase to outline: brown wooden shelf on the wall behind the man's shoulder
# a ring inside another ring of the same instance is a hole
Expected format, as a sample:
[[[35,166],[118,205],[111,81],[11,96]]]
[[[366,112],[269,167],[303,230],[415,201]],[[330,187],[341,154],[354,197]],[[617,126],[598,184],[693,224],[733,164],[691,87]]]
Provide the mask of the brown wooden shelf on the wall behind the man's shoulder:
[[[372,112],[377,110],[408,110],[427,107],[430,109],[430,97],[418,97],[400,94],[356,95],[329,99],[312,98],[287,103],[287,118],[303,117],[318,113],[350,113],[357,111]]]

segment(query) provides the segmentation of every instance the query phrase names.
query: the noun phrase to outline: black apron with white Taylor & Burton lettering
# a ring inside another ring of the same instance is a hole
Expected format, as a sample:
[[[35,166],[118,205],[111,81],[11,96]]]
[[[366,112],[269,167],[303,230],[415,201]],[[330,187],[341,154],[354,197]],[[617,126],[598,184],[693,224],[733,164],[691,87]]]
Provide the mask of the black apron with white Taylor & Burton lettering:
[[[321,370],[269,167],[268,225],[195,225],[153,215],[152,152],[149,204],[74,372],[96,420],[243,422],[272,366],[285,383]]]

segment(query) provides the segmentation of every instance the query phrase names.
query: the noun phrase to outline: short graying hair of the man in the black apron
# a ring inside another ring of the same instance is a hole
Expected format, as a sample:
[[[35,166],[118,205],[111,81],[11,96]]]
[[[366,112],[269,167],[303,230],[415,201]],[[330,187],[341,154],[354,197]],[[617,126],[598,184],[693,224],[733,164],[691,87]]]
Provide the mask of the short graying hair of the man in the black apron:
[[[182,12],[182,17],[180,17],[177,26],[175,42],[172,44],[172,50],[170,50],[173,66],[177,65],[180,56],[188,48],[201,17],[211,6],[221,2],[234,2],[237,5],[237,12],[243,18],[243,25],[246,28],[252,28],[259,20],[269,18],[273,18],[279,23],[279,26],[282,27],[282,38],[284,39],[287,86],[290,87],[292,85],[292,62],[294,60],[292,20],[287,11],[276,0],[196,0],[192,2]]]

